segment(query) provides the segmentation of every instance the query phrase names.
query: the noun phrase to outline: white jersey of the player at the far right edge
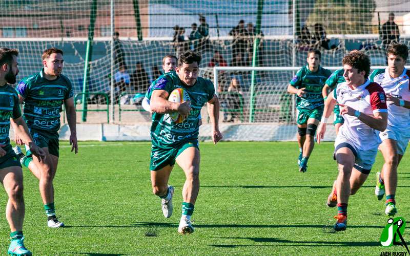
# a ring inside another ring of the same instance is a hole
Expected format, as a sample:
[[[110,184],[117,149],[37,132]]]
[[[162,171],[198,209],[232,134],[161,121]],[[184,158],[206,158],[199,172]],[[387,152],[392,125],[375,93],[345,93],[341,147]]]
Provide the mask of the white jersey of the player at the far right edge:
[[[394,97],[410,101],[409,79],[410,71],[404,69],[403,73],[392,78],[388,74],[388,68],[383,73],[377,74],[373,79],[383,87],[385,93]],[[410,130],[410,110],[402,106],[397,106],[392,102],[387,102],[388,125],[396,131]]]

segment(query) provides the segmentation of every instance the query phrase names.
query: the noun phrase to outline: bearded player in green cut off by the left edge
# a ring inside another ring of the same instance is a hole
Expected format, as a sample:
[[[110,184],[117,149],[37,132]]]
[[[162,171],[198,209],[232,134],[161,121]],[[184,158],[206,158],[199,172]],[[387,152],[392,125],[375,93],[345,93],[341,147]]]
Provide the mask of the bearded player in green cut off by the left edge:
[[[18,134],[38,161],[43,162],[46,154],[33,142],[28,127],[22,118],[17,93],[9,85],[16,82],[18,74],[17,55],[17,49],[0,48],[0,182],[8,196],[6,219],[11,230],[8,254],[31,255],[31,251],[26,249],[23,243],[25,213],[23,172],[17,155],[10,145],[10,120],[15,123],[14,133]]]

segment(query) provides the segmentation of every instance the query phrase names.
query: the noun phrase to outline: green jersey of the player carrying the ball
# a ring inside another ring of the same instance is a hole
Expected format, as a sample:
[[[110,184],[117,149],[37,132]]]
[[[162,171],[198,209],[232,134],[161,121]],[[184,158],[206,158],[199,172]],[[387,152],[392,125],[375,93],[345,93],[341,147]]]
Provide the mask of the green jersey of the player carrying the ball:
[[[188,118],[175,123],[169,114],[152,114],[151,140],[152,144],[162,148],[172,148],[180,143],[185,143],[198,138],[200,113],[202,106],[210,101],[215,95],[213,83],[202,77],[198,77],[194,86],[185,86],[175,72],[168,72],[160,76],[154,90],[165,90],[169,94],[177,88],[184,89],[191,100],[191,112]]]

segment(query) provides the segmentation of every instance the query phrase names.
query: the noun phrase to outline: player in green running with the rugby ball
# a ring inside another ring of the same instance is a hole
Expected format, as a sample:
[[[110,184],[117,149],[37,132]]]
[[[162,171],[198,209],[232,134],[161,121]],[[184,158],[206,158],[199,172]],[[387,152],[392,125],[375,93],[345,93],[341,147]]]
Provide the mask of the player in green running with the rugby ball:
[[[191,50],[182,53],[178,59],[176,72],[162,75],[152,88],[151,110],[151,183],[153,193],[159,196],[162,214],[170,218],[173,211],[172,196],[174,187],[168,186],[168,179],[175,162],[186,176],[182,188],[182,216],[178,232],[194,232],[191,216],[199,191],[199,114],[205,103],[212,123],[212,140],[216,144],[222,139],[219,132],[219,100],[210,80],[198,77],[201,56]],[[189,101],[175,103],[168,101],[170,93],[184,89]],[[175,123],[169,116],[171,112],[186,116],[185,121]]]

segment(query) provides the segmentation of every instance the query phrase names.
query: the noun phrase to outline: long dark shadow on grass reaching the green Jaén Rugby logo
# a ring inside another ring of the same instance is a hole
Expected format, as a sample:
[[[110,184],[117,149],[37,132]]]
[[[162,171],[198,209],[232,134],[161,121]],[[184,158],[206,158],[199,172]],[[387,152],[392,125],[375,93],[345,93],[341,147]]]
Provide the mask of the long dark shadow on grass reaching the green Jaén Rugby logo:
[[[350,227],[350,226],[349,226]],[[330,242],[330,241],[291,241],[283,240],[276,238],[222,238],[222,239],[248,239],[257,243],[282,243],[275,245],[223,245],[223,244],[211,244],[213,247],[222,247],[222,248],[235,248],[235,247],[247,247],[247,246],[380,246],[380,242]]]

